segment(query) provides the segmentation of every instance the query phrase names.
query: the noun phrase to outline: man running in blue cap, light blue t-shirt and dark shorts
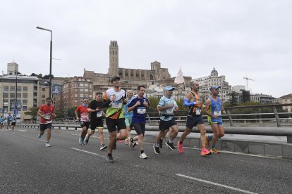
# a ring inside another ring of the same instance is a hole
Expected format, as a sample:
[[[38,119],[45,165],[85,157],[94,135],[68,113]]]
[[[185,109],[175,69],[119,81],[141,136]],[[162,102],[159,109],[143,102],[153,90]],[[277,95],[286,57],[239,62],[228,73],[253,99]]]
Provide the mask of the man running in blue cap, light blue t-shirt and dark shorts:
[[[157,105],[158,110],[160,111],[160,122],[159,122],[159,134],[156,138],[156,143],[153,145],[154,153],[159,154],[159,141],[162,136],[164,136],[165,131],[169,130],[169,141],[166,141],[166,145],[170,150],[176,149],[174,147],[174,138],[178,135],[178,124],[174,119],[174,111],[178,110],[178,105],[172,93],[174,87],[166,86],[164,88],[164,96],[160,98],[160,101]]]

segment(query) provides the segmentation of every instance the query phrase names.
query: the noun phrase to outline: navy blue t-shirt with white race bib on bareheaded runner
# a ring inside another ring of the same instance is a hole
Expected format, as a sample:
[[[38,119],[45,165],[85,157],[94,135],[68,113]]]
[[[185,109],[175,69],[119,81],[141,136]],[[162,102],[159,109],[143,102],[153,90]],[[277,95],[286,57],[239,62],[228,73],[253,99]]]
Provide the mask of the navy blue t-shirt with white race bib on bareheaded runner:
[[[132,107],[138,101],[140,101],[140,105],[136,106],[133,110],[132,123],[145,123],[146,122],[146,115],[145,115],[146,107],[143,103],[147,102],[150,105],[148,98],[145,98],[144,96],[142,98],[135,96],[135,98],[132,98],[130,100],[128,107]]]

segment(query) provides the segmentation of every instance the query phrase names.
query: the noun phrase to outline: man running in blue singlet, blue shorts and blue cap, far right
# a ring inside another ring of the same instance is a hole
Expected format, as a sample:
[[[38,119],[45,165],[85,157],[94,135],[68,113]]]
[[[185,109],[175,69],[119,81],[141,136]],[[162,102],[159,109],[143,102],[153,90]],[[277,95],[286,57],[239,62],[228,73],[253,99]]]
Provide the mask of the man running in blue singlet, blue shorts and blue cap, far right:
[[[206,145],[209,144],[209,141],[212,140],[210,151],[212,153],[219,153],[219,150],[215,148],[218,138],[224,136],[224,127],[221,119],[221,113],[226,114],[224,110],[223,103],[219,98],[219,89],[220,86],[212,86],[210,88],[211,96],[206,101],[205,112],[208,115],[208,120],[211,124],[211,129],[213,131],[212,136],[206,137]],[[211,111],[209,110],[211,108]]]

